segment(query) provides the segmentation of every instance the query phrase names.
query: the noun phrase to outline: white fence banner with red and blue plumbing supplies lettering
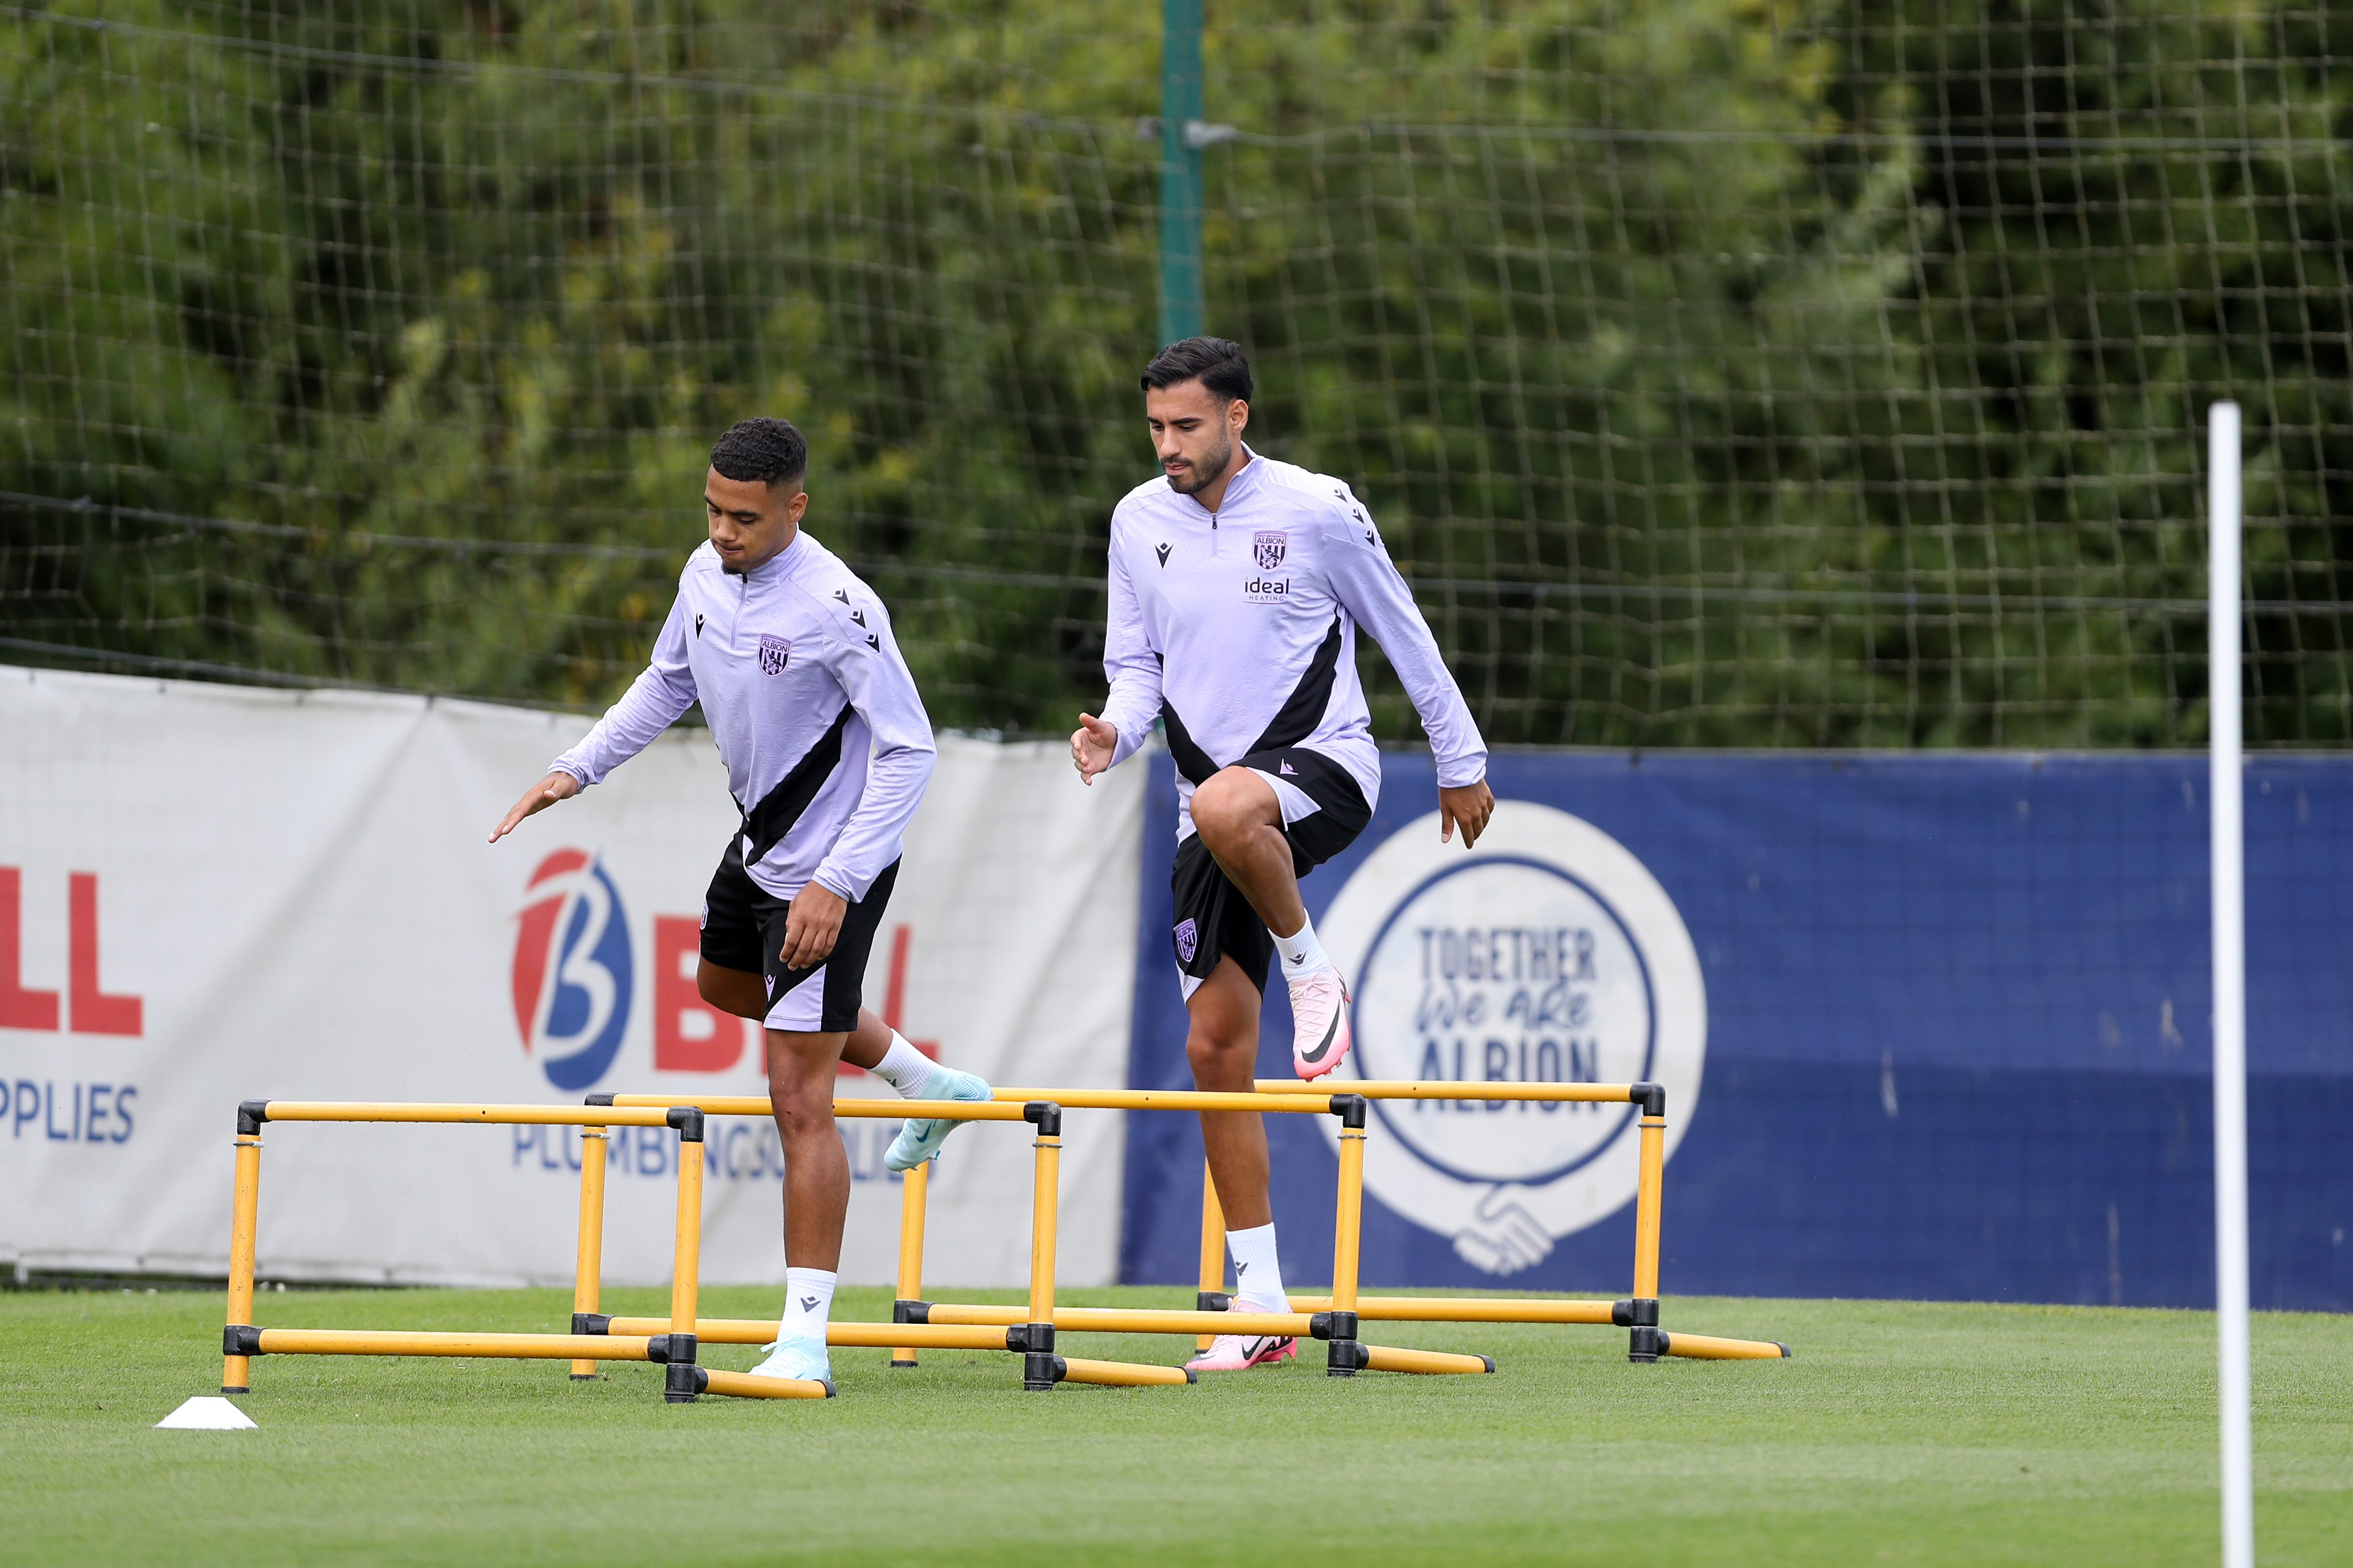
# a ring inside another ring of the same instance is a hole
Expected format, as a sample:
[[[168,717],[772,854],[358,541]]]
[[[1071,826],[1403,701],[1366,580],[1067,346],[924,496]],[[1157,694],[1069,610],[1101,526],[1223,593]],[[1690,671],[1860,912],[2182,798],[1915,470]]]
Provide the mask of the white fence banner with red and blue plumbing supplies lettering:
[[[765,1093],[694,990],[734,830],[701,729],[485,844],[579,715],[0,668],[0,1262],[221,1274],[238,1100]],[[866,1004],[998,1084],[1127,1081],[1144,769],[944,738]],[[849,1072],[842,1098],[889,1098]],[[887,1284],[896,1121],[842,1121],[842,1279]],[[929,1281],[1028,1276],[1031,1128],[960,1128]],[[1064,1124],[1061,1274],[1118,1269],[1120,1117]],[[605,1276],[671,1272],[678,1135],[614,1128]],[[264,1131],[278,1279],[572,1279],[572,1128]],[[704,1279],[784,1279],[767,1119],[706,1145]]]

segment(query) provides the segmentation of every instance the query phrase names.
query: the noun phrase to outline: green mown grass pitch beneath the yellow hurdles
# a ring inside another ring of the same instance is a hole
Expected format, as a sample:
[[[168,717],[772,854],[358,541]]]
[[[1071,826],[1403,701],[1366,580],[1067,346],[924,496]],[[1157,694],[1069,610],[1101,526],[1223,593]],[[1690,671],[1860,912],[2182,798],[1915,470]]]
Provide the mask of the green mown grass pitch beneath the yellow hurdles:
[[[835,1312],[887,1307],[845,1291]],[[704,1293],[713,1316],[769,1309],[774,1291]],[[1332,1380],[1313,1347],[1191,1389],[1052,1394],[1024,1394],[1007,1356],[892,1371],[835,1349],[840,1399],[694,1406],[631,1363],[574,1385],[548,1361],[266,1356],[238,1401],[259,1432],[153,1432],[216,1389],[219,1312],[0,1298],[5,1561],[2217,1561],[2214,1328],[2193,1312],[1673,1298],[1668,1328],[1798,1359],[1628,1366],[1621,1331],[1384,1324],[1379,1342],[1501,1371]],[[259,1316],[546,1331],[567,1312],[560,1291],[294,1291]],[[1066,1338],[1158,1361],[1184,1345]],[[2257,1316],[2254,1399],[2261,1561],[2353,1561],[2353,1319]]]

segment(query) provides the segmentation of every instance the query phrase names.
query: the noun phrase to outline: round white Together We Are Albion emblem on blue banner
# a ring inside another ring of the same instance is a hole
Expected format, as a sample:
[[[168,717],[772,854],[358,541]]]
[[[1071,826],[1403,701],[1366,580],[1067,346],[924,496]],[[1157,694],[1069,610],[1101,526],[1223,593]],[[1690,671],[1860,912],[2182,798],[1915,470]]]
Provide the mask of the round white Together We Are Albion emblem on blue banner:
[[[1374,1100],[1391,1133],[1365,1185],[1487,1274],[1541,1262],[1635,1194],[1635,1107],[1487,1100],[1480,1084],[1668,1088],[1692,1114],[1706,994],[1692,938],[1624,844],[1565,811],[1504,802],[1478,851],[1400,827],[1318,922],[1355,978],[1351,1077],[1461,1084]],[[1329,1128],[1327,1128],[1329,1135]]]

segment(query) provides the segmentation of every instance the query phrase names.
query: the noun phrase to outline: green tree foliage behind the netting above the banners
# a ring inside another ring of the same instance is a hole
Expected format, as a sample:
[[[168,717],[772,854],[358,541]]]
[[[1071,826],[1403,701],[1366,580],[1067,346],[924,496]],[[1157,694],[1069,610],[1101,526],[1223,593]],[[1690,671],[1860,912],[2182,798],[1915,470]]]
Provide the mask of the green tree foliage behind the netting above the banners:
[[[104,26],[101,26],[104,12]],[[0,635],[595,703],[711,437],[944,724],[1099,696],[1151,475],[1158,16],[146,0],[0,19]],[[1212,329],[1499,741],[2195,741],[2249,404],[2249,726],[2344,743],[2329,12],[1212,12]],[[89,498],[73,510],[61,503]],[[219,527],[224,522],[245,527]],[[496,548],[480,541],[496,541]],[[1414,724],[1367,661],[1384,733]]]

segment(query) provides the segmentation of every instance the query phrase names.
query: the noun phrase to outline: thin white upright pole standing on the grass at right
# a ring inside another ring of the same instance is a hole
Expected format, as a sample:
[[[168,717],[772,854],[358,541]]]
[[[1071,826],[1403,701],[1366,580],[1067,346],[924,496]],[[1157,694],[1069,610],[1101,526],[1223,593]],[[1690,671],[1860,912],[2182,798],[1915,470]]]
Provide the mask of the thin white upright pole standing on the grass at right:
[[[2247,1413],[2247,886],[2240,827],[2238,404],[2207,414],[2207,722],[2214,856],[2214,1321],[2221,1335],[2221,1561],[2254,1568]]]

